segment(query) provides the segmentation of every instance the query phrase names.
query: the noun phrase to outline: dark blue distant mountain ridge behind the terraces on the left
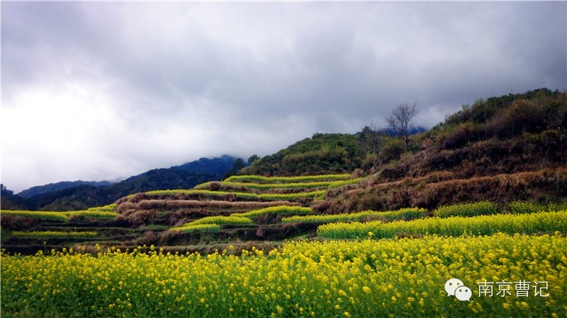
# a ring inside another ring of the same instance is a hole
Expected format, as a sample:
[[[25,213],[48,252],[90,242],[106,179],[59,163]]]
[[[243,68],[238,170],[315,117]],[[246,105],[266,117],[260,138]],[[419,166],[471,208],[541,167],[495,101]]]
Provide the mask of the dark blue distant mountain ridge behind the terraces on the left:
[[[110,185],[77,184],[29,197],[15,195],[18,206],[30,210],[65,211],[111,204],[122,196],[164,189],[191,189],[197,184],[220,180],[235,158],[201,158],[184,165],[153,169]],[[58,182],[67,184],[67,182]],[[71,182],[72,183],[72,182]],[[43,187],[50,186],[49,184]],[[42,186],[40,186],[42,187]],[[33,189],[33,188],[30,188]],[[28,191],[28,190],[26,190]]]

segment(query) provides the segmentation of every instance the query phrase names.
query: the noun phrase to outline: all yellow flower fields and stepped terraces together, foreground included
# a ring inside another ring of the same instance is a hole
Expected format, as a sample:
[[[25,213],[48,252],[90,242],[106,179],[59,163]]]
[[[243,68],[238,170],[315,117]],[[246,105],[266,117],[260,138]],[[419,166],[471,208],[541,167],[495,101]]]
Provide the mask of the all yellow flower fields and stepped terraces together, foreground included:
[[[566,204],[312,208],[354,182],[238,176],[90,211],[2,211],[2,312],[566,317]]]

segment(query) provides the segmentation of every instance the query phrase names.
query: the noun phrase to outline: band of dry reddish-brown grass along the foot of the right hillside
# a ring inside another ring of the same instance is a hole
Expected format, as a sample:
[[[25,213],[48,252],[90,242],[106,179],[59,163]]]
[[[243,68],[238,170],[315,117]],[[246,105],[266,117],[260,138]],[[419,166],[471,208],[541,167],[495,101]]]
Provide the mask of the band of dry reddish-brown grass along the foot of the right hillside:
[[[447,179],[439,173],[371,184],[352,189],[320,204],[325,213],[355,212],[366,209],[403,207],[437,208],[463,201],[494,202],[529,199],[534,201],[567,196],[567,169],[544,169],[466,179]]]

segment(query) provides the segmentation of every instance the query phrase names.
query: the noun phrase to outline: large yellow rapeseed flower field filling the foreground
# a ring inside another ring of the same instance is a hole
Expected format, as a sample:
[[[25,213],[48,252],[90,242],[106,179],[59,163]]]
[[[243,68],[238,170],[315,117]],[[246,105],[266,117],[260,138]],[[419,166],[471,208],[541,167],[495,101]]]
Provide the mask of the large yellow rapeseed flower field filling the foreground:
[[[1,310],[21,317],[565,317],[566,250],[567,238],[556,232],[301,241],[241,256],[2,254]],[[447,295],[449,278],[472,290],[469,301]],[[482,283],[492,283],[493,295],[481,293]]]

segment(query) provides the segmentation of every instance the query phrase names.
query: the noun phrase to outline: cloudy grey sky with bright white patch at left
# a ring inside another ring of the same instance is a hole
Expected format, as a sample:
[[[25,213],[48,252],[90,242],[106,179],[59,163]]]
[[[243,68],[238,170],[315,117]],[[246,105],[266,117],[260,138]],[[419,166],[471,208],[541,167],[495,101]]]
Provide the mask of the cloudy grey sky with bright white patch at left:
[[[1,2],[1,182],[113,180],[567,90],[567,2]]]

